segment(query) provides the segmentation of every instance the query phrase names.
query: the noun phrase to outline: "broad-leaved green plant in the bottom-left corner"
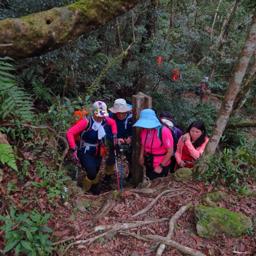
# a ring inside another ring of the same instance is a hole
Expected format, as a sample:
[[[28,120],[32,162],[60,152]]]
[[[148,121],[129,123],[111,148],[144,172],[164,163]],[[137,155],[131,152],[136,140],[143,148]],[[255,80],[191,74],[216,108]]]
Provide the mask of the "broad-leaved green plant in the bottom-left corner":
[[[49,241],[48,233],[51,233],[52,229],[46,226],[50,217],[51,214],[43,216],[37,210],[31,213],[17,213],[12,205],[9,215],[0,216],[0,219],[6,222],[0,227],[1,230],[5,230],[7,239],[3,253],[14,247],[16,255],[22,252],[28,256],[44,256],[51,253],[52,243]]]

